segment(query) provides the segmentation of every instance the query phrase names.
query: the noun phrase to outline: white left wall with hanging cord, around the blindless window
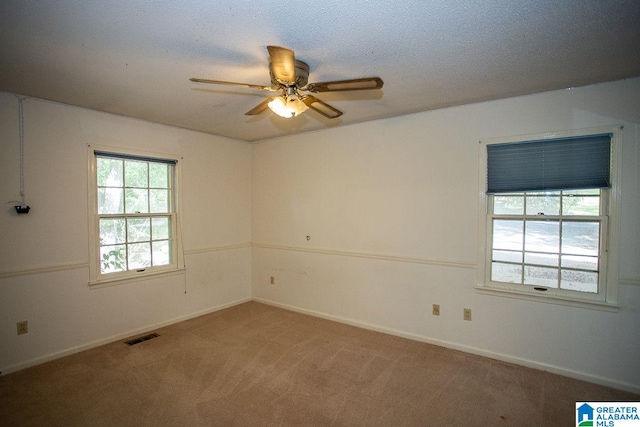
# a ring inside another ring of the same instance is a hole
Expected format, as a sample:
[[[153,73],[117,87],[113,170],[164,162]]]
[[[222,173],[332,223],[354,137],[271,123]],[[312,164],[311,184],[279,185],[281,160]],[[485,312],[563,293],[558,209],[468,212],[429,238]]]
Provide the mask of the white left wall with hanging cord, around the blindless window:
[[[27,99],[32,210],[18,216],[18,129],[18,100],[0,93],[0,371],[251,298],[251,145]],[[89,289],[89,143],[184,157],[184,274]]]

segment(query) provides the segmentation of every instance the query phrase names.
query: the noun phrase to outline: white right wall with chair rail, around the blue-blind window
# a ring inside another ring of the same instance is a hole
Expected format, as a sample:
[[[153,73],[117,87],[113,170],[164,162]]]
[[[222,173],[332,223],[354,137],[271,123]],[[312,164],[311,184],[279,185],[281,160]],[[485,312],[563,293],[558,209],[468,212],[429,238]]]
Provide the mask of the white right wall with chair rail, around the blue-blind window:
[[[640,392],[639,100],[632,79],[263,141],[254,299]],[[478,294],[478,141],[605,125],[624,125],[620,310]]]

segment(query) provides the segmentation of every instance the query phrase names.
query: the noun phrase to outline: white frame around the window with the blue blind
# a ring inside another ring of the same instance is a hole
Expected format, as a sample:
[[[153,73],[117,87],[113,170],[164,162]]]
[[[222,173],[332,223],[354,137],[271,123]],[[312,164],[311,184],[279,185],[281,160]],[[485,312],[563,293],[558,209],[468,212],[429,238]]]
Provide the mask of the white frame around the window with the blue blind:
[[[553,140],[598,134],[611,134],[611,188],[602,191],[600,205],[603,211],[599,289],[597,294],[579,291],[547,289],[538,291],[534,286],[491,281],[491,251],[493,243],[493,196],[487,194],[487,146],[525,141]],[[520,298],[530,301],[564,304],[616,311],[618,305],[618,248],[620,242],[620,180],[621,162],[619,146],[622,126],[598,127],[581,130],[547,132],[516,137],[490,138],[480,141],[479,150],[479,210],[478,210],[478,269],[476,290],[483,294]]]

